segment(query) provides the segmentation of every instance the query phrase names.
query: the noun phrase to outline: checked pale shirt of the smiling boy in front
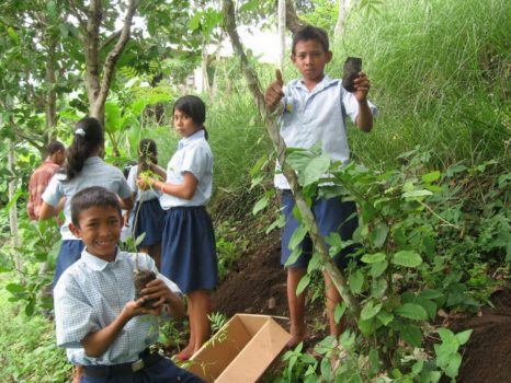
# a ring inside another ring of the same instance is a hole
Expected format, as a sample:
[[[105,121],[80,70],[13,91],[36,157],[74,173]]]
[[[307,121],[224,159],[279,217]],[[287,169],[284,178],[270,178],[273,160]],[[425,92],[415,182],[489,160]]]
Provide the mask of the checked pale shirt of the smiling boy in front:
[[[158,272],[150,256],[138,253],[140,270],[155,271],[169,289],[181,294],[178,286]],[[110,365],[138,360],[138,355],[158,339],[159,317],[139,315],[129,320],[120,335],[100,357],[86,355],[81,340],[86,335],[110,325],[125,304],[135,299],[136,254],[117,251],[115,260],[105,262],[89,252],[69,266],[54,290],[57,346],[65,347],[71,363]]]

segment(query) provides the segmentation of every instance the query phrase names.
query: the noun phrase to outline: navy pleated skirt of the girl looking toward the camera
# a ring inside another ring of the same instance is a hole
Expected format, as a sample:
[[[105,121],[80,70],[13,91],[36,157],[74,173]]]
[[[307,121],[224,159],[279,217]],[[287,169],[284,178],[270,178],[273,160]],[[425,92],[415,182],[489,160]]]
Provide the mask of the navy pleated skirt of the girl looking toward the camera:
[[[218,279],[215,233],[204,206],[167,211],[161,243],[161,274],[183,293],[211,290]]]

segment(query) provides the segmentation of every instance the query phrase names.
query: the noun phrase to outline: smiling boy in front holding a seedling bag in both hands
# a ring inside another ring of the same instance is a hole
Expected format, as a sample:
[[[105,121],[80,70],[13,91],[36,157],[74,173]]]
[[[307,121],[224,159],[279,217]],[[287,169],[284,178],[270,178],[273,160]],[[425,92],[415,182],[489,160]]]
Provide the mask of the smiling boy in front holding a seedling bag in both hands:
[[[117,197],[88,187],[70,201],[69,229],[86,248],[54,290],[57,345],[70,362],[83,367],[82,383],[203,382],[149,347],[159,321],[182,317],[178,287],[161,276],[146,254],[117,248],[123,218]],[[152,270],[136,299],[135,270]],[[144,303],[156,300],[151,306]]]

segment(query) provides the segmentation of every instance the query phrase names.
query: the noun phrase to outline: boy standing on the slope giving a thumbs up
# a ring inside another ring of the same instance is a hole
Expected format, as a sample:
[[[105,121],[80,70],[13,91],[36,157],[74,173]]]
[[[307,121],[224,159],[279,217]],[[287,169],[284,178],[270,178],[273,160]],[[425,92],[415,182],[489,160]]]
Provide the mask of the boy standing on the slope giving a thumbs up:
[[[325,74],[325,66],[331,60],[327,33],[318,27],[307,25],[293,36],[291,60],[302,74],[302,79],[293,80],[284,88],[282,74],[276,73],[276,81],[271,83],[265,93],[265,103],[271,111],[282,105],[281,136],[287,147],[308,149],[316,142],[321,142],[322,150],[330,154],[332,161],[348,164],[350,150],[348,147],[345,116],[363,131],[373,127],[373,114],[376,108],[367,102],[370,81],[364,72],[359,73],[354,81],[354,92],[350,93],[342,86],[340,79],[330,79]],[[295,200],[289,185],[282,173],[275,174],[275,187],[281,193],[281,204],[285,216],[285,227],[282,230],[282,257],[285,265],[291,251],[291,236],[299,225],[293,216]],[[339,198],[316,199],[311,210],[321,235],[338,232],[343,241],[350,240],[357,227],[356,207],[354,202],[342,202]],[[352,216],[353,214],[353,216]],[[352,216],[351,219],[348,219]],[[289,347],[294,347],[307,337],[305,325],[305,292],[296,295],[296,289],[302,277],[307,271],[311,255],[311,242],[306,237],[302,243],[303,254],[287,267],[287,301],[291,316]],[[353,248],[345,248],[333,260],[338,267],[348,264],[347,255]],[[341,324],[334,321],[336,305],[341,302],[339,291],[323,271],[327,313],[330,334],[342,333]]]

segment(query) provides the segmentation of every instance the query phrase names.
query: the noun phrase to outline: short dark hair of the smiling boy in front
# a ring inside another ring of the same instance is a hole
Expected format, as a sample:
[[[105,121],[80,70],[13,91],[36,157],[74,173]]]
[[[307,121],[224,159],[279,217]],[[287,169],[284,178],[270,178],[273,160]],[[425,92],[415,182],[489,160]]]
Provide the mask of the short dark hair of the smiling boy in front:
[[[76,227],[79,227],[80,213],[94,207],[115,208],[121,216],[121,206],[118,205],[117,196],[102,186],[91,186],[81,189],[72,196],[71,222]]]

